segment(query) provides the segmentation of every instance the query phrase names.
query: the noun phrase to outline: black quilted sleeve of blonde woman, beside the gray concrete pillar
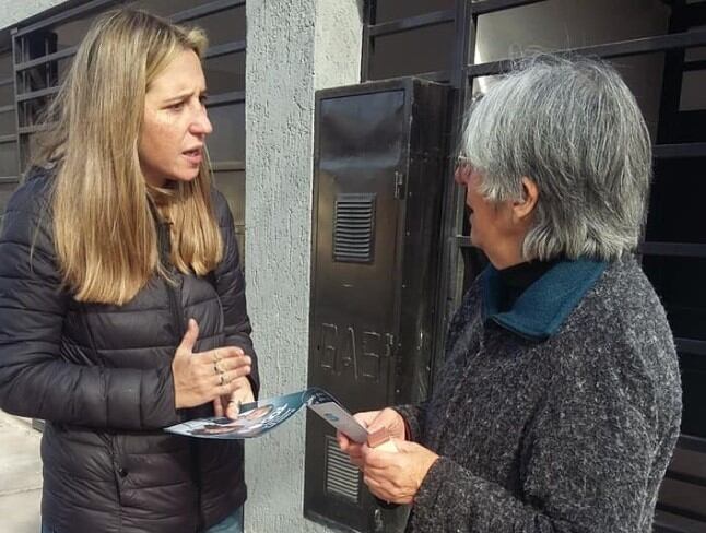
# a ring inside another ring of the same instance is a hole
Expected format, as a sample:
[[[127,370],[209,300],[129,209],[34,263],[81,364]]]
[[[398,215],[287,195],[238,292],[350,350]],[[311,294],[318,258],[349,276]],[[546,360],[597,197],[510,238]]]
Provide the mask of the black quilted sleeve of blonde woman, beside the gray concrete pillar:
[[[223,261],[215,269],[215,286],[223,306],[226,343],[243,348],[252,359],[249,379],[252,393],[257,399],[260,391],[258,359],[250,339],[252,328],[245,300],[245,277],[235,237],[233,214],[225,198],[219,191],[214,191],[214,206],[223,236]]]

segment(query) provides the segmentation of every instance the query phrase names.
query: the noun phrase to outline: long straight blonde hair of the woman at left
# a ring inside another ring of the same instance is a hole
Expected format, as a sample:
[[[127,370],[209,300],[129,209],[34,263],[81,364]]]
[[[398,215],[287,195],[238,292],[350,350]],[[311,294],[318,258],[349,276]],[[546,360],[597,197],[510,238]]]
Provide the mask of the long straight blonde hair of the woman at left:
[[[205,47],[200,29],[134,10],[101,15],[79,47],[34,158],[56,163],[55,242],[77,300],[122,305],[156,272],[168,277],[151,198],[170,222],[170,261],[180,272],[205,275],[221,261],[208,158],[195,180],[170,182],[165,193],[149,188],[138,156],[150,83],[179,52],[202,58]]]

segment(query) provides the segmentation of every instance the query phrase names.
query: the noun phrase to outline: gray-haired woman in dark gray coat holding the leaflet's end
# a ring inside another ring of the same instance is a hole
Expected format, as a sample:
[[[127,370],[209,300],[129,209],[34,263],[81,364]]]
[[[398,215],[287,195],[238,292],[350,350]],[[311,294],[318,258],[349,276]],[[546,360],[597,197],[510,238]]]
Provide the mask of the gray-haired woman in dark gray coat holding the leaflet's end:
[[[540,58],[495,84],[456,180],[491,264],[422,405],[361,413],[398,452],[341,448],[412,532],[648,532],[679,435],[664,310],[633,252],[650,142],[619,74]]]

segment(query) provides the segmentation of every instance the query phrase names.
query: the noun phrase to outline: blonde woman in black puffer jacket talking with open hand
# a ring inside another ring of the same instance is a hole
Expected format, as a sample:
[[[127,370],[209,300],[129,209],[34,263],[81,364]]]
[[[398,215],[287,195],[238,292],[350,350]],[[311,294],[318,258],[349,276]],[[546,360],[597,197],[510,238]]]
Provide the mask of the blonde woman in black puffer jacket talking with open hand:
[[[0,233],[0,407],[44,418],[45,532],[240,532],[235,417],[259,382],[233,218],[211,188],[202,32],[101,16]]]

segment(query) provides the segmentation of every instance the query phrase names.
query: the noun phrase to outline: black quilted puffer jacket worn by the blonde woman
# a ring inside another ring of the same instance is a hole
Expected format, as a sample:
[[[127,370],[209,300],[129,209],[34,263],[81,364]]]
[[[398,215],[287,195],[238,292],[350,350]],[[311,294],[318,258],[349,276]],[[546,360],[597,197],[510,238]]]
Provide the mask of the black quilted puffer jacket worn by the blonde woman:
[[[209,528],[245,501],[243,446],[162,428],[212,414],[174,406],[170,365],[188,318],[200,327],[196,351],[236,345],[252,357],[258,392],[226,201],[214,192],[225,252],[212,276],[178,274],[176,287],[155,277],[122,307],[82,304],[59,291],[50,180],[37,173],[14,193],[0,232],[0,408],[48,422],[43,519],[61,533]]]

